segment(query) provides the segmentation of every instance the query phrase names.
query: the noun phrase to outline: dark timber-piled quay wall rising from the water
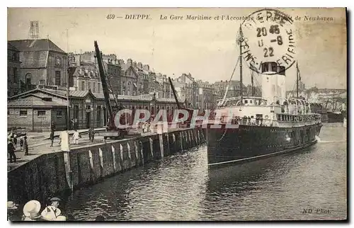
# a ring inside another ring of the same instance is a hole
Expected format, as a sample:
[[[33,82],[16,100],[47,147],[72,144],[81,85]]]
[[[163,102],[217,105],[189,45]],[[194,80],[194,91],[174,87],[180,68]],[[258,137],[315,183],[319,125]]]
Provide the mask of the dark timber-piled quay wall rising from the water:
[[[204,144],[202,129],[188,128],[42,154],[8,171],[8,200],[24,205],[83,188],[149,161]]]

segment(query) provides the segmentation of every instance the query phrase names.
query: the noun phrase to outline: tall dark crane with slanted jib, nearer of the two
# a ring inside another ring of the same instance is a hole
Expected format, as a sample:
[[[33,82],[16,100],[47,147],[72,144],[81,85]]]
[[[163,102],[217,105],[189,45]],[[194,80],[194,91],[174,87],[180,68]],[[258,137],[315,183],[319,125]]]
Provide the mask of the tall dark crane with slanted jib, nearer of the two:
[[[95,52],[96,52],[96,58],[98,62],[98,69],[100,71],[100,76],[101,76],[101,83],[102,83],[102,89],[103,89],[103,95],[105,97],[105,106],[107,107],[108,110],[108,124],[106,127],[106,131],[100,133],[100,135],[103,135],[104,139],[111,138],[111,139],[122,139],[127,135],[128,130],[127,129],[120,129],[115,125],[115,113],[113,112],[113,107],[110,104],[110,94],[108,92],[108,79],[105,74],[105,70],[103,68],[103,60],[102,60],[102,53],[100,52],[98,48],[97,41],[95,40]],[[117,98],[115,98],[115,103],[117,105],[118,110],[122,109],[121,106],[118,105]],[[123,118],[123,121],[126,120],[126,118]],[[122,122],[122,118],[120,118],[120,121]]]

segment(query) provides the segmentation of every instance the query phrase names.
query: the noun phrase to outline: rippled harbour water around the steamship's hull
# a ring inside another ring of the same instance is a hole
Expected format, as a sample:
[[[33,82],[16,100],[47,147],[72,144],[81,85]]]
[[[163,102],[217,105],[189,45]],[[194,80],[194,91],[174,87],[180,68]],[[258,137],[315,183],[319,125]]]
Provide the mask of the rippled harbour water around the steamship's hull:
[[[343,220],[346,153],[343,123],[324,123],[300,152],[215,170],[203,146],[76,190],[63,211],[86,221]]]

